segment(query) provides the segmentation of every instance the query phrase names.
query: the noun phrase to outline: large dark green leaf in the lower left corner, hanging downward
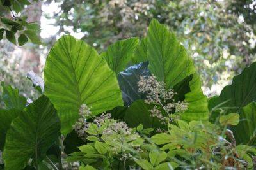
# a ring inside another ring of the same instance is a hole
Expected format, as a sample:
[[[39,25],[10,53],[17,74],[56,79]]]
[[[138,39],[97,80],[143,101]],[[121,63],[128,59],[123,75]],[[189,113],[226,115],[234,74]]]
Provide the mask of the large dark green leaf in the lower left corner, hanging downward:
[[[29,104],[12,121],[6,134],[3,153],[5,169],[23,169],[31,157],[38,164],[58,138],[59,131],[60,120],[46,96]]]

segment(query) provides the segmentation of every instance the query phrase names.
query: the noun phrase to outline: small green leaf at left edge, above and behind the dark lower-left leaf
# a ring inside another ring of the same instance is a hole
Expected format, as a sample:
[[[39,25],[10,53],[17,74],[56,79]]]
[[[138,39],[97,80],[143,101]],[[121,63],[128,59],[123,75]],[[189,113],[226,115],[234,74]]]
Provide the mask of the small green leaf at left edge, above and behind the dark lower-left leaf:
[[[10,85],[4,85],[1,83],[3,87],[2,99],[6,108],[12,109],[16,108],[22,110],[26,106],[26,98],[19,94],[19,89],[14,89]]]

